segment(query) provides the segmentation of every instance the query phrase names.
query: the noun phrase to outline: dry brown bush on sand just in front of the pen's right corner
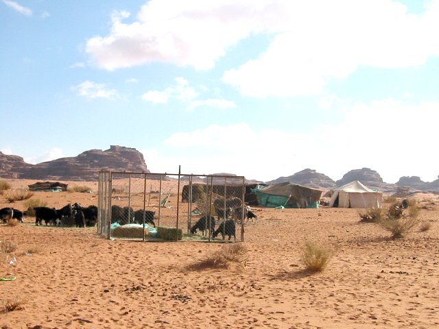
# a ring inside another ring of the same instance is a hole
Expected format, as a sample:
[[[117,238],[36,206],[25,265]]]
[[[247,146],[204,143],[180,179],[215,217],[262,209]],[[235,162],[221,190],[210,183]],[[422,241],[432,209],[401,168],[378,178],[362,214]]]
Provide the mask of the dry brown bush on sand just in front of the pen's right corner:
[[[202,260],[189,265],[189,269],[228,269],[232,264],[245,267],[248,249],[241,243],[228,243]]]

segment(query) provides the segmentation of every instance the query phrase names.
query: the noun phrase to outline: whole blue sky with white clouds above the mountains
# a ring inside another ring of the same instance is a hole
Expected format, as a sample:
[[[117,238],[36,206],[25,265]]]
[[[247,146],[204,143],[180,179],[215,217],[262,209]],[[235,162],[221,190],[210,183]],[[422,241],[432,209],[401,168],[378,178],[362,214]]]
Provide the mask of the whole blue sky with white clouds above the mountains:
[[[0,151],[436,180],[439,0],[0,0]]]

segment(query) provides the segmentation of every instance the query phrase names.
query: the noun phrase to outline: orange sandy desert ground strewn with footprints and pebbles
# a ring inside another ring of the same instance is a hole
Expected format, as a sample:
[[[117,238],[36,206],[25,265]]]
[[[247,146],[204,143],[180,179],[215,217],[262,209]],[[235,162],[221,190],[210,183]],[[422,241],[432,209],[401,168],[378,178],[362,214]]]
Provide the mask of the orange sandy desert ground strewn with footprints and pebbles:
[[[97,193],[36,197],[97,204]],[[416,198],[431,228],[397,240],[355,209],[256,207],[246,266],[229,269],[189,269],[221,243],[110,241],[96,228],[32,219],[0,225],[0,241],[18,245],[15,266],[1,258],[0,276],[16,280],[0,281],[0,328],[439,328],[439,197]],[[305,271],[306,240],[333,249],[322,273]],[[4,312],[8,302],[19,309]]]

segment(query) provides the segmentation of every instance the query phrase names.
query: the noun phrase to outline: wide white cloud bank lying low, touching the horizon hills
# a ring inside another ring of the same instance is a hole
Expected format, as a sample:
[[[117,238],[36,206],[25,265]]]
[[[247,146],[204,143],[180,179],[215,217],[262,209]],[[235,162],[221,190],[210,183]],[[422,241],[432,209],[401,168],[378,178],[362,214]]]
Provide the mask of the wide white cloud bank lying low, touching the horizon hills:
[[[357,103],[339,124],[302,133],[254,130],[247,123],[176,132],[161,149],[171,156],[161,156],[156,163],[163,167],[157,170],[169,172],[181,164],[185,172],[228,172],[268,181],[311,168],[340,180],[352,169],[368,167],[388,183],[403,175],[431,182],[439,174],[438,108],[439,103],[405,105],[388,99]]]

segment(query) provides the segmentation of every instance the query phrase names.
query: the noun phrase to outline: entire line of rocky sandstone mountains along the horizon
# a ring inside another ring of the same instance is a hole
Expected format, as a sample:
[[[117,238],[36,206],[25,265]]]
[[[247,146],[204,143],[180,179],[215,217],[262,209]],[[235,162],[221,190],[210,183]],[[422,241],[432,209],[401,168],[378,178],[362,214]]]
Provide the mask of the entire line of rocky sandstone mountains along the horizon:
[[[21,156],[10,156],[0,152],[0,178],[23,178],[34,180],[97,180],[100,170],[132,171],[150,173],[137,149],[111,145],[110,149],[91,149],[75,157],[60,158],[39,164],[28,164]],[[231,175],[230,173],[213,173],[211,175]],[[172,179],[172,178],[169,178]],[[189,181],[189,177],[182,180]],[[202,182],[204,177],[193,178],[193,182]],[[335,182],[323,173],[313,169],[304,169],[288,177],[280,177],[266,184],[294,182],[311,188],[329,190],[359,180],[370,188],[383,192],[396,192],[398,187],[410,187],[411,191],[439,191],[439,176],[434,182],[423,182],[418,176],[403,176],[396,184],[388,184],[377,173],[369,168],[355,169],[344,174]],[[242,180],[228,180],[228,184],[239,184]],[[224,178],[215,178],[215,184],[221,184]],[[259,184],[258,180],[247,180],[246,184]]]

